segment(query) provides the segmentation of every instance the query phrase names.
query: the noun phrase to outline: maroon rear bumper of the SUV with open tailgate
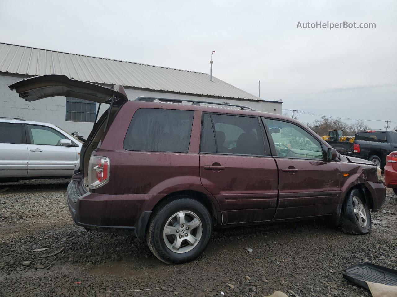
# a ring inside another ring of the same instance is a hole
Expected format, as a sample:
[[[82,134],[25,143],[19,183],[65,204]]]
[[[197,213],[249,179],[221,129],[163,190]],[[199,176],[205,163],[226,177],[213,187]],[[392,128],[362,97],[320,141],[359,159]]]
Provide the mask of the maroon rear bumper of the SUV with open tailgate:
[[[67,186],[67,204],[76,225],[101,232],[134,231],[143,240],[152,211],[143,211],[147,195],[83,193],[80,180]]]

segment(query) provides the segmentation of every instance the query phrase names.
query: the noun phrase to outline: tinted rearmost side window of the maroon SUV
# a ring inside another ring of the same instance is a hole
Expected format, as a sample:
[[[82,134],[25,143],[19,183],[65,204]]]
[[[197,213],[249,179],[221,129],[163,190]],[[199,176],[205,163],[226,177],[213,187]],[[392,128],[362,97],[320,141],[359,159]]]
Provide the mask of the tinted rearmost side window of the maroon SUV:
[[[138,109],[132,117],[123,147],[149,152],[187,152],[194,111]]]

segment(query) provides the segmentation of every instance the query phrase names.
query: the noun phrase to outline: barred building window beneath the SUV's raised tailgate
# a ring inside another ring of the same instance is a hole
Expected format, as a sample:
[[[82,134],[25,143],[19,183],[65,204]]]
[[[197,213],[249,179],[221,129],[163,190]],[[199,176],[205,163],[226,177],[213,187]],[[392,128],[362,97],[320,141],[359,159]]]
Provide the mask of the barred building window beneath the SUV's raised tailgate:
[[[96,103],[84,99],[66,97],[66,120],[72,122],[94,122]]]

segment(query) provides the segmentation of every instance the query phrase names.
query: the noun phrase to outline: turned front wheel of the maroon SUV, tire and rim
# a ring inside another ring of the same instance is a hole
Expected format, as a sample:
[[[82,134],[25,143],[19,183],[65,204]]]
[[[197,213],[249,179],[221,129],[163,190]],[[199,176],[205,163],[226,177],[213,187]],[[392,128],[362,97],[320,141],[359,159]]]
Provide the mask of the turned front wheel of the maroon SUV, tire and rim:
[[[343,202],[341,211],[342,230],[348,234],[366,234],[371,231],[371,213],[358,188],[351,190]]]

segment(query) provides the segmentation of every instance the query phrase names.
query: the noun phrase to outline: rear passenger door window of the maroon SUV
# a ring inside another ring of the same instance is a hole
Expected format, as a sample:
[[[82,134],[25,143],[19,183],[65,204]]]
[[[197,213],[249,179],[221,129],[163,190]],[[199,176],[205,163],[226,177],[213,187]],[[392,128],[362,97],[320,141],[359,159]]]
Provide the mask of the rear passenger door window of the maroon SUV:
[[[212,124],[210,124],[210,115],[204,114],[202,152],[266,155],[258,118],[212,114],[212,121],[215,133]],[[213,144],[208,145],[212,142],[213,135],[215,135],[216,147]],[[203,144],[207,147],[203,147]]]

